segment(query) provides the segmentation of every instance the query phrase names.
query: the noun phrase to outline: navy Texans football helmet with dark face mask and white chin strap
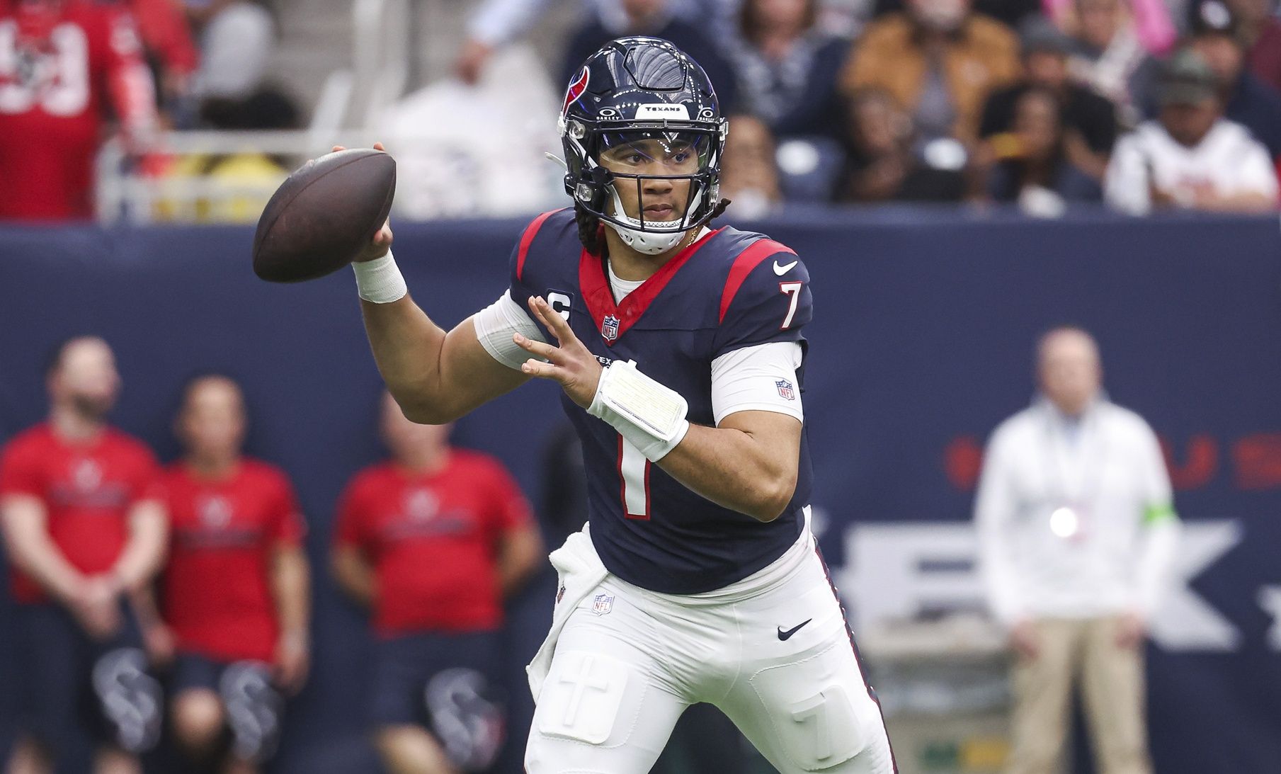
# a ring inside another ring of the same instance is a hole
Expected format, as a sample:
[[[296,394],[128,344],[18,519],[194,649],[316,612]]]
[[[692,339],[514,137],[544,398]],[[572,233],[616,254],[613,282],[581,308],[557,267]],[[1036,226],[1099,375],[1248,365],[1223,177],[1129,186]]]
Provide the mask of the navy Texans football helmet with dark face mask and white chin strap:
[[[632,247],[662,252],[712,218],[728,131],[707,73],[684,51],[658,37],[611,41],[587,59],[565,92],[565,191]],[[601,164],[602,154],[652,160],[642,147],[658,147],[665,163],[674,160],[673,173],[629,174]],[[643,210],[628,215],[617,186],[634,185],[639,201],[647,179],[688,179],[685,211],[673,220],[647,220]]]

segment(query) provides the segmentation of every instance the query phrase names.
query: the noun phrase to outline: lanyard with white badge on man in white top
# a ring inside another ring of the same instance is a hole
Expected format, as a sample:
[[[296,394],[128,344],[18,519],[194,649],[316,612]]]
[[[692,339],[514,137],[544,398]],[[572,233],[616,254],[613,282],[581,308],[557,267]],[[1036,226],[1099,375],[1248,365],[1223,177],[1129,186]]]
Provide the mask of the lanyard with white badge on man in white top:
[[[1084,543],[1090,534],[1091,507],[1097,501],[1097,495],[1103,483],[1103,474],[1107,468],[1106,438],[1100,436],[1099,443],[1090,443],[1088,419],[1081,416],[1077,420],[1076,438],[1067,437],[1070,431],[1062,432],[1062,442],[1057,442],[1054,428],[1054,414],[1047,409],[1045,437],[1048,441],[1048,456],[1045,463],[1045,500],[1049,502],[1045,513],[1045,525],[1050,534],[1070,542]],[[1094,449],[1086,449],[1094,446]],[[1071,477],[1067,472],[1065,455],[1077,454],[1081,457],[1080,475],[1077,486],[1071,487]]]

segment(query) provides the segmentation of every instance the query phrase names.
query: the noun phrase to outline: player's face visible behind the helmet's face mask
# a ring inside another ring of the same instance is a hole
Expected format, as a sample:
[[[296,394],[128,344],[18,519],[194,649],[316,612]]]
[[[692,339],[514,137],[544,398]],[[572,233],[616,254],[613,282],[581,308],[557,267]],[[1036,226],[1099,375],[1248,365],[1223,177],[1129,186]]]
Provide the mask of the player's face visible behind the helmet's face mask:
[[[658,137],[637,136],[603,150],[601,165],[615,174],[614,188],[623,202],[621,214],[647,223],[684,217],[689,208],[690,181],[664,178],[697,174],[703,163],[701,145],[706,145],[702,136],[671,132]]]

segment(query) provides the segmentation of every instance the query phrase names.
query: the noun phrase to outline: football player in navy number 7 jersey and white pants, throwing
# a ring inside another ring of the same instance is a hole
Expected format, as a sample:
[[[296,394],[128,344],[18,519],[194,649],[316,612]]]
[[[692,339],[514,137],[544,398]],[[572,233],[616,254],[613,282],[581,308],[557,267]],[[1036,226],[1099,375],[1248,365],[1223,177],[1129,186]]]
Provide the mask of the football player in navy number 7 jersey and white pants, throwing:
[[[533,774],[648,771],[696,702],[780,771],[894,770],[808,527],[810,276],[779,242],[710,227],[726,127],[685,54],[612,41],[560,115],[573,208],[529,224],[498,301],[443,331],[388,228],[355,264],[410,419],[552,379],[583,441],[589,523],[552,554],[559,601],[529,666]]]

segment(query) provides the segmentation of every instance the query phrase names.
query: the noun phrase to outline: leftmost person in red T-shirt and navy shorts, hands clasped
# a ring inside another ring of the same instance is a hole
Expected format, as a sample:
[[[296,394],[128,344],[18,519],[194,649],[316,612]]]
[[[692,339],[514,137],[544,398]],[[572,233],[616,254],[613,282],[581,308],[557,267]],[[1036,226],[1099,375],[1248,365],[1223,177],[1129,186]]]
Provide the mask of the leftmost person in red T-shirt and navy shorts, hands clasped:
[[[159,569],[165,513],[151,451],[106,424],[119,387],[106,342],[69,340],[47,372],[49,420],[0,456],[24,683],[12,773],[87,770],[67,755],[90,745],[100,774],[138,771],[160,732],[159,687],[122,600]]]

